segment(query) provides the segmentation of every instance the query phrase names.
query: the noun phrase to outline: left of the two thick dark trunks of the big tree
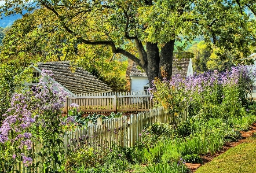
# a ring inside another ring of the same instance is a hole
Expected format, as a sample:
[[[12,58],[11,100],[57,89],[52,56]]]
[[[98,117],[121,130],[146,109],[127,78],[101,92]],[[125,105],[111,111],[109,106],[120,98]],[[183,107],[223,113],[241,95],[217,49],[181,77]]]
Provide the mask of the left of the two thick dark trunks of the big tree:
[[[146,43],[146,49],[147,49],[147,60],[148,60],[148,81],[150,87],[152,87],[152,80],[158,77],[159,73],[159,49],[158,49],[158,43]]]

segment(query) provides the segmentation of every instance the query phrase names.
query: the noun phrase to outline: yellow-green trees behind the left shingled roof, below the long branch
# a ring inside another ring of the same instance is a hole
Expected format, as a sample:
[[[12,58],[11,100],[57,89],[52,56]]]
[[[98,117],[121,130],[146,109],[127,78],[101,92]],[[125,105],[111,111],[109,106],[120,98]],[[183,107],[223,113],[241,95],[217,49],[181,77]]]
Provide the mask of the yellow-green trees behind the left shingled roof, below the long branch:
[[[47,10],[38,9],[15,21],[3,40],[2,55],[6,61],[18,58],[20,62],[30,64],[72,60],[103,80],[114,91],[126,90],[127,63],[123,63],[122,57],[114,55],[105,45],[74,42],[69,34],[54,27],[54,20],[56,17],[47,13]],[[47,26],[43,30],[36,27],[41,23]]]

